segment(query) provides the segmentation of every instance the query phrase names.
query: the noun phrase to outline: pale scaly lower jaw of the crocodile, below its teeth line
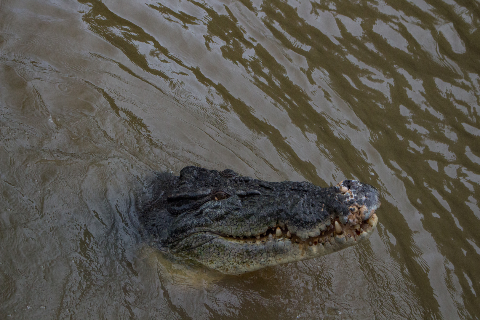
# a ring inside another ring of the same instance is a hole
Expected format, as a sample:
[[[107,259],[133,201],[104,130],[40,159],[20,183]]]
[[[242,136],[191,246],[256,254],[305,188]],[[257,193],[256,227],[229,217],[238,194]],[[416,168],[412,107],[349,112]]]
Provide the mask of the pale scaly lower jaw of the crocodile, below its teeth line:
[[[219,236],[184,254],[222,273],[242,274],[268,266],[321,257],[361,243],[373,233],[378,218],[372,214],[360,226],[340,225],[335,221],[318,237],[288,237],[288,231],[281,228],[278,231],[276,228],[258,239]]]

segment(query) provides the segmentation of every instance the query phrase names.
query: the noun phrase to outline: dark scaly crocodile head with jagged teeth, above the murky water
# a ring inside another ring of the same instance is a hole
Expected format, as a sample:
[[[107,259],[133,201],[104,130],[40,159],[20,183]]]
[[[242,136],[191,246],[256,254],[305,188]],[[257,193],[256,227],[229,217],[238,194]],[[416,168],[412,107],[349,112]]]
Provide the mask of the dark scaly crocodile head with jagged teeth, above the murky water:
[[[267,182],[187,166],[159,173],[136,203],[144,240],[174,257],[241,274],[365,241],[377,224],[374,187],[344,180]]]

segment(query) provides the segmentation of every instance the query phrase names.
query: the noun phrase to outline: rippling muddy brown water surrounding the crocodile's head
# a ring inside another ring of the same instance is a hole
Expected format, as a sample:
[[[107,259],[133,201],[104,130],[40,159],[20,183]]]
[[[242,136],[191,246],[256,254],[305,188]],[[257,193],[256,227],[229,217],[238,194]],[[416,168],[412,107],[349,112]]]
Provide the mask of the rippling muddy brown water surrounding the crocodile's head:
[[[479,319],[475,0],[1,0],[1,319]],[[381,191],[378,230],[221,276],[132,201],[198,165]]]

